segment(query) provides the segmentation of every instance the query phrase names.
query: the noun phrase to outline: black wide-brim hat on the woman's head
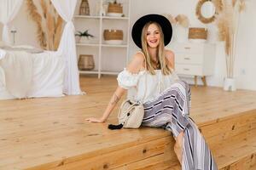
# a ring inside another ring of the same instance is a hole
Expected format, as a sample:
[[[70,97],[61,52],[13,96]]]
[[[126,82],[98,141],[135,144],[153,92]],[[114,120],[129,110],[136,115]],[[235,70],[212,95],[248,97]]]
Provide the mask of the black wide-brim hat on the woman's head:
[[[148,23],[148,22],[157,22],[163,31],[164,34],[164,42],[165,46],[171,42],[172,39],[172,24],[171,22],[166,19],[165,16],[160,15],[160,14],[147,14],[138,19],[135,24],[132,26],[131,30],[131,37],[133,39],[133,42],[137,45],[137,47],[142,48],[142,41],[141,41],[141,36],[142,36],[142,31],[143,27]]]

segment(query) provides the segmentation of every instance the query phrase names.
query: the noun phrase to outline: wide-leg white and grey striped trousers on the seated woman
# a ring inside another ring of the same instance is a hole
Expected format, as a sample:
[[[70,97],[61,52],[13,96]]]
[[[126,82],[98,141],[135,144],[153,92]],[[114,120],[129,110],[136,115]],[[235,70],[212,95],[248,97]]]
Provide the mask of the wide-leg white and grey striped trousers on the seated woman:
[[[167,88],[154,101],[144,104],[143,126],[163,127],[177,137],[183,135],[183,170],[217,170],[211,150],[189,117],[190,88],[187,82],[178,81]]]

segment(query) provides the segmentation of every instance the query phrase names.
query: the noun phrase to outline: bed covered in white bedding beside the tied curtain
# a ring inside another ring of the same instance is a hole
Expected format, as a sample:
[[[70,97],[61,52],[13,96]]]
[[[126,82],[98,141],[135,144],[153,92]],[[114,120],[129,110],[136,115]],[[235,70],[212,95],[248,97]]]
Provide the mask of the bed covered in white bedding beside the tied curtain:
[[[61,97],[64,68],[55,52],[0,48],[0,99]]]

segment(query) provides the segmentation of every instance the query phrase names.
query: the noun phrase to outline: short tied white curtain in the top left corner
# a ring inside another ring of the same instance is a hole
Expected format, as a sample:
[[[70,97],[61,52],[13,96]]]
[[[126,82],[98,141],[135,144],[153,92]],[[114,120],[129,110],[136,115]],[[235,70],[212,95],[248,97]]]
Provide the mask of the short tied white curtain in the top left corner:
[[[0,22],[3,23],[3,42],[11,43],[9,37],[9,22],[14,20],[23,0],[0,0]]]

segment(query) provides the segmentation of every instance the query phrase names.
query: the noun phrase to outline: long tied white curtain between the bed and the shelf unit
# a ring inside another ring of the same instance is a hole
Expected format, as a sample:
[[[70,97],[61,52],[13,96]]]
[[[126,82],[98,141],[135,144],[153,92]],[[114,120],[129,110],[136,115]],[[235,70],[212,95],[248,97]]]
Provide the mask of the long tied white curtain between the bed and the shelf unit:
[[[68,95],[81,94],[74,26],[72,22],[77,0],[51,0],[51,2],[55,6],[57,12],[61,15],[61,18],[67,22],[57,52],[66,60],[63,92]]]

